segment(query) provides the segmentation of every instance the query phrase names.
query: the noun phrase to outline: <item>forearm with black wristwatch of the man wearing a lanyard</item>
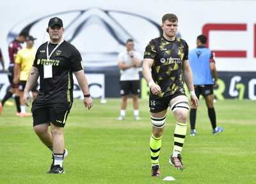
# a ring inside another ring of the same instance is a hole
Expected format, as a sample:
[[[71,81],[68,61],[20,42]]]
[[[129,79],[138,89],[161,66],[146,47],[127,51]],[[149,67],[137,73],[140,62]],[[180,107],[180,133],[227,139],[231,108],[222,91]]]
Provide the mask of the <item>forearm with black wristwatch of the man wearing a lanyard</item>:
[[[90,91],[89,91],[86,76],[84,75],[84,70],[79,70],[74,73],[76,75],[77,82],[78,82],[81,90],[83,91],[83,94],[89,95]],[[90,110],[90,108],[92,108],[92,106],[93,106],[92,96],[84,96],[84,106],[88,107],[88,110]]]

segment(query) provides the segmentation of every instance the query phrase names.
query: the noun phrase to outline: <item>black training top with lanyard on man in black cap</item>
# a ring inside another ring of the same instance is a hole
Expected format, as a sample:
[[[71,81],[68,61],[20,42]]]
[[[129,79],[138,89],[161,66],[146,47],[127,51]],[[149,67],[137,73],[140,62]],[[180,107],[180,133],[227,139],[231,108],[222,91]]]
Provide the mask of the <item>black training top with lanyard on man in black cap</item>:
[[[33,66],[38,68],[40,75],[40,89],[36,100],[45,103],[73,102],[74,81],[72,72],[83,70],[81,54],[74,45],[66,41],[61,43],[56,50],[54,48],[57,44],[49,43],[49,55],[52,50],[54,52],[47,61],[47,44],[48,42],[43,43],[38,48],[33,63]],[[44,65],[51,65],[52,72],[51,66],[44,69]],[[52,77],[45,78],[44,70],[47,70],[47,73],[52,73]]]

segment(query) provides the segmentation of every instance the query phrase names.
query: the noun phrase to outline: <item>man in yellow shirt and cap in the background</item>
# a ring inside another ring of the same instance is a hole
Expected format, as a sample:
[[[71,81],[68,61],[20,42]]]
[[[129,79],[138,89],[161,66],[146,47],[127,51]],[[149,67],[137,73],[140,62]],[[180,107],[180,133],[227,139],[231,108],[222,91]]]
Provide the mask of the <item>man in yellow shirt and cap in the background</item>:
[[[27,36],[26,47],[20,49],[17,52],[17,56],[15,59],[13,82],[15,84],[19,84],[20,117],[31,116],[31,113],[26,112],[26,106],[23,102],[23,93],[24,93],[29,72],[32,68],[33,61],[35,59],[36,49],[35,47],[33,47],[34,40],[36,40],[36,38],[33,38],[33,36]],[[38,84],[36,82],[36,85],[31,89],[34,100],[38,93],[36,89],[37,86]]]

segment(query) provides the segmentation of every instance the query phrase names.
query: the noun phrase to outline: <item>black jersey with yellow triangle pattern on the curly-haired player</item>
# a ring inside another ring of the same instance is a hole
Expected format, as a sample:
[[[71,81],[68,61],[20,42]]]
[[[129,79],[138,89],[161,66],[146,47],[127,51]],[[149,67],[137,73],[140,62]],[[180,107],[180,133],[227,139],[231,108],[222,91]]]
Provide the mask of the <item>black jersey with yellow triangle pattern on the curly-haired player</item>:
[[[184,93],[182,63],[188,60],[188,52],[186,41],[177,37],[171,42],[161,36],[148,43],[144,58],[154,59],[152,78],[162,90],[158,96],[173,95],[176,91]]]

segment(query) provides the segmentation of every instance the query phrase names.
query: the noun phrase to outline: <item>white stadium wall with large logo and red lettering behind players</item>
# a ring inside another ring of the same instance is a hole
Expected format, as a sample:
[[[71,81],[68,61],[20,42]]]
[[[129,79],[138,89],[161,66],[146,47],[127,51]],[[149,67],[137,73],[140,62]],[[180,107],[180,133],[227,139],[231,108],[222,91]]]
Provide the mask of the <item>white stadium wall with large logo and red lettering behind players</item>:
[[[207,45],[216,53],[219,73],[216,98],[256,100],[255,7],[255,1],[2,0],[0,47],[7,69],[8,43],[20,31],[28,30],[37,38],[38,47],[49,40],[45,31],[48,20],[60,17],[65,40],[81,52],[92,96],[115,98],[120,97],[116,57],[125,49],[127,38],[133,38],[135,49],[143,54],[147,43],[161,35],[161,17],[175,13],[179,17],[178,36],[188,42],[190,49],[196,47],[198,34],[209,38]],[[8,85],[6,73],[0,73],[0,99]],[[141,78],[141,98],[147,95],[147,84]],[[74,96],[81,98],[77,83]]]

